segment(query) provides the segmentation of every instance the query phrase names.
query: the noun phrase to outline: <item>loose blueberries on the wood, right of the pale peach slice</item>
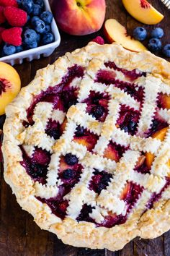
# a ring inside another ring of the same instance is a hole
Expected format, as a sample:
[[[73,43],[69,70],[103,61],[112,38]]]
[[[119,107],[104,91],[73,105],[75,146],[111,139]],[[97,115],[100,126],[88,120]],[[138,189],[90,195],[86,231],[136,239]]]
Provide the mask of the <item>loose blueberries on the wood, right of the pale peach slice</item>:
[[[148,41],[148,49],[153,53],[164,54],[166,57],[170,57],[170,44],[162,47],[161,38],[164,36],[164,30],[161,27],[156,27],[151,31],[150,40]],[[148,33],[144,27],[136,27],[133,30],[133,37],[137,40],[146,40]]]

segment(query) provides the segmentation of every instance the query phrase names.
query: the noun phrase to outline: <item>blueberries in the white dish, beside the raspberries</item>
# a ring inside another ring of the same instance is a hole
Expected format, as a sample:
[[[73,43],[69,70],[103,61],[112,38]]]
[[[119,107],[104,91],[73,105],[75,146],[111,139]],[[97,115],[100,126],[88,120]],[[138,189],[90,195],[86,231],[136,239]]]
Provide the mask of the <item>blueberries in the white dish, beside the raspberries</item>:
[[[4,46],[1,49],[1,56],[12,55],[31,48],[37,48],[38,46],[44,46],[48,43],[53,43],[55,40],[55,37],[51,31],[53,14],[51,12],[45,11],[44,1],[16,1],[18,8],[22,9],[24,12],[27,12],[27,22],[20,28],[22,29],[22,44],[17,46],[12,43],[4,43]],[[8,25],[7,28],[9,28]]]

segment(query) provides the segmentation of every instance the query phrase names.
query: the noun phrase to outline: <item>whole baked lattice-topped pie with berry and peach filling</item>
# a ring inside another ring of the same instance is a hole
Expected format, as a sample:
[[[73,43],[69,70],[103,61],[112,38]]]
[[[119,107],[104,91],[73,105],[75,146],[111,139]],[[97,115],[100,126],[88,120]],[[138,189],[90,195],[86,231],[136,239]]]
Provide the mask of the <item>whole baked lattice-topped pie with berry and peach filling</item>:
[[[67,53],[6,108],[4,177],[41,229],[117,250],[170,228],[170,64],[117,44]]]

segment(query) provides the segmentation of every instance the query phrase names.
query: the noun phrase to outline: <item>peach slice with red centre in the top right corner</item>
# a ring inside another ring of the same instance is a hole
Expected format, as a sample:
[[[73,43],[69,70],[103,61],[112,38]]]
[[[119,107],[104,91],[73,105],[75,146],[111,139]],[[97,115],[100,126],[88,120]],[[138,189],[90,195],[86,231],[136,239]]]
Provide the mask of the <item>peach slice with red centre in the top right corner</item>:
[[[164,15],[146,0],[122,0],[122,4],[130,15],[144,24],[154,25],[164,19]]]

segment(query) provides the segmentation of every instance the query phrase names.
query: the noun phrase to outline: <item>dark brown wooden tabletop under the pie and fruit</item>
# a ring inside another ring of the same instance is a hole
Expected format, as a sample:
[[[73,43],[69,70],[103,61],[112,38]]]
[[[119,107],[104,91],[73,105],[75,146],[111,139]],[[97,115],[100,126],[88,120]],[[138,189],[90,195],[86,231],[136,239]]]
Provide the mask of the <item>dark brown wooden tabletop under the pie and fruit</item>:
[[[150,2],[166,15],[164,21],[161,22],[161,27],[164,27],[166,32],[162,41],[164,44],[170,43],[170,11],[159,0]],[[139,25],[125,12],[120,0],[107,0],[106,18],[111,17],[125,25],[129,33]],[[152,28],[151,26],[146,27],[149,30]],[[62,56],[66,51],[85,46],[96,35],[102,35],[102,30],[99,33],[84,37],[74,37],[62,33],[61,46],[56,49],[52,56],[16,66],[22,78],[22,86],[27,85],[33,79],[37,69],[53,63],[55,59],[58,59],[58,56]],[[2,121],[3,118],[0,118],[1,124]],[[170,231],[158,239],[137,238],[119,252],[109,252],[105,249],[79,249],[63,244],[54,234],[40,230],[34,223],[32,216],[19,207],[14,195],[12,195],[12,190],[4,182],[3,171],[1,171],[0,196],[0,256],[170,256]]]

